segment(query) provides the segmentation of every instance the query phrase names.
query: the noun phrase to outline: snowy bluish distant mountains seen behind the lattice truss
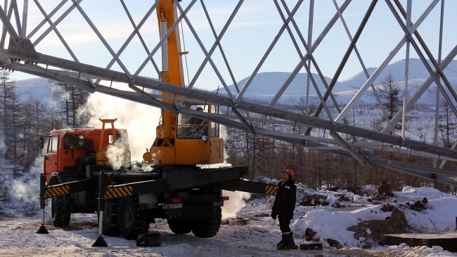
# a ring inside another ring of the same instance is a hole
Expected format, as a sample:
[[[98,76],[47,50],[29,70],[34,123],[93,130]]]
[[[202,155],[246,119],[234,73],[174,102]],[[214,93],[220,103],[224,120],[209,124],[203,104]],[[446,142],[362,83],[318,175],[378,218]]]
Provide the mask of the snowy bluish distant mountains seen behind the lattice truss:
[[[400,84],[400,88],[403,89],[403,80],[404,80],[404,60],[398,61],[396,63],[391,63],[387,65],[385,70],[382,71],[380,76],[375,80],[373,84],[379,85],[381,81],[385,78],[387,73],[391,73],[394,76],[394,79]],[[429,61],[430,65],[431,62]],[[374,73],[375,68],[367,68],[368,73],[371,75]],[[447,66],[444,70],[446,77],[448,78],[449,82],[453,85],[457,85],[457,61],[451,61],[451,63]],[[259,73],[254,77],[250,86],[247,88],[243,98],[246,100],[262,100],[262,101],[269,101],[275,94],[278,92],[278,89],[283,85],[285,80],[288,79],[290,73],[283,73],[283,72],[270,72],[270,73]],[[321,94],[325,92],[325,87],[323,82],[321,81],[320,77],[317,74],[313,74],[314,80],[318,86],[318,89],[321,91]],[[423,65],[420,59],[410,59],[409,61],[409,73],[408,73],[408,87],[411,91],[417,89],[427,78],[429,77],[429,73],[427,69]],[[292,80],[289,87],[281,96],[280,103],[287,104],[287,103],[297,103],[297,101],[302,102],[304,101],[304,96],[307,94],[307,74],[306,73],[299,73],[297,76]],[[245,82],[247,81],[248,77],[245,77],[243,80],[237,82],[238,88],[241,89]],[[325,77],[327,84],[330,84],[330,77]],[[360,72],[353,77],[350,77],[347,80],[342,82],[337,82],[333,89],[335,94],[335,98],[337,102],[340,104],[347,104],[347,102],[352,99],[352,96],[356,94],[357,89],[363,86],[366,82],[367,78],[365,73]],[[29,97],[34,97],[41,99],[42,101],[50,101],[49,90],[51,89],[51,83],[49,80],[44,78],[35,78],[29,80],[20,80],[16,82],[18,85],[18,92],[21,94],[22,99],[28,99]],[[457,87],[457,86],[455,86]],[[235,85],[230,85],[228,88],[231,90],[232,94],[236,95],[236,87]],[[318,97],[316,95],[316,90],[314,89],[313,85],[310,84],[309,87],[309,94],[311,103],[318,103]],[[409,90],[408,90],[409,91]],[[219,94],[226,94],[224,89],[219,89]],[[431,99],[430,99],[431,98]],[[433,100],[432,100],[433,99]],[[435,102],[436,99],[436,86],[432,84],[430,89],[425,92],[422,99],[419,102]],[[366,92],[362,99],[359,101],[361,104],[373,104],[375,102],[375,98],[371,93],[371,90]]]

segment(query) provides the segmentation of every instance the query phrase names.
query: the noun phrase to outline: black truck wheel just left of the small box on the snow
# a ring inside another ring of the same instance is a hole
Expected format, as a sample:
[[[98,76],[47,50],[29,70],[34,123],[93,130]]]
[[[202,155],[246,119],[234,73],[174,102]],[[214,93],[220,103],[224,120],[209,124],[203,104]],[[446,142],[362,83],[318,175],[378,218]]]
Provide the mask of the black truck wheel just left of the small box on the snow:
[[[138,197],[124,196],[119,201],[117,209],[117,225],[127,240],[138,238],[138,234],[146,234],[149,230],[149,215],[139,209]]]

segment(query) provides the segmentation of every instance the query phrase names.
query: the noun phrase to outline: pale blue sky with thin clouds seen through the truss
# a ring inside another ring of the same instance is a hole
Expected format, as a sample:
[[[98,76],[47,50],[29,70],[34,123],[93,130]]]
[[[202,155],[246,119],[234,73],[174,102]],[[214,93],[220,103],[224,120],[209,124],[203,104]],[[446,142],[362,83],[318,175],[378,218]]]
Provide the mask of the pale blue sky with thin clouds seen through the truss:
[[[37,23],[43,19],[43,15],[41,15],[34,2],[29,2],[27,35]],[[60,1],[42,1],[41,4],[46,10],[46,13],[50,13],[59,2]],[[148,11],[151,5],[151,1],[125,2],[136,24],[143,18],[143,15]],[[183,0],[181,4],[187,6],[189,2],[189,0]],[[296,2],[297,1],[286,1],[290,9],[295,6]],[[341,6],[342,3],[343,1],[337,1],[339,6]],[[406,6],[406,1],[401,1],[401,3]],[[212,19],[212,23],[214,24],[217,33],[224,27],[226,20],[229,15],[231,15],[236,4],[238,4],[238,1],[205,1],[205,6],[210,13],[210,18]],[[352,37],[354,37],[359,23],[370,4],[371,1],[354,0],[343,13]],[[413,22],[417,20],[418,16],[423,13],[429,4],[430,1],[413,1]],[[87,15],[89,15],[89,18],[91,18],[101,31],[103,37],[105,37],[112,49],[117,51],[132,32],[131,23],[129,23],[120,1],[86,0],[82,1],[81,5]],[[430,47],[430,51],[432,51],[435,58],[438,58],[440,5],[441,3],[437,4],[432,13],[430,13],[423,24],[418,28],[418,31]],[[22,1],[19,1],[19,6],[22,9]],[[69,6],[70,3],[65,4],[51,20],[56,20]],[[453,46],[456,46],[457,44],[457,33],[453,27],[457,24],[457,17],[453,14],[456,9],[456,1],[445,2],[442,58],[444,58]],[[333,5],[333,1],[320,0],[315,2],[312,42],[321,34],[323,27],[327,25],[334,14],[335,6]],[[202,40],[202,43],[205,45],[205,48],[209,51],[214,43],[214,36],[212,35],[210,26],[202,11],[200,1],[197,1],[195,6],[193,6],[192,11],[188,13],[188,18],[191,20],[191,23]],[[304,1],[295,15],[295,21],[300,26],[300,31],[305,40],[307,40],[308,37],[308,20],[309,1]],[[188,73],[192,79],[193,75],[200,67],[200,63],[204,56],[200,46],[198,46],[195,41],[191,30],[189,30],[185,23],[183,23],[183,25],[186,51],[189,51],[189,54],[186,56],[186,61]],[[231,65],[236,81],[251,75],[266,49],[268,49],[273,41],[273,38],[277,35],[281,25],[283,25],[283,23],[273,1],[247,0],[243,3],[236,18],[231,23],[231,27],[229,27],[221,40],[221,45],[228,58],[228,63]],[[34,35],[34,37],[32,37],[32,42],[34,42],[47,27],[48,25],[45,25],[37,35]],[[111,60],[109,52],[104,48],[103,44],[101,44],[100,40],[76,9],[58,25],[58,30],[82,63],[105,67]],[[145,25],[141,27],[140,32],[145,39],[149,50],[152,50],[159,41],[155,11],[150,15],[150,18]],[[295,35],[297,34],[295,33]],[[397,20],[394,19],[392,13],[390,13],[385,1],[378,1],[375,11],[373,11],[370,20],[368,20],[366,28],[357,44],[366,67],[377,67],[380,65],[403,35],[403,31],[399,27]],[[298,37],[296,38],[298,40]],[[314,52],[314,58],[316,58],[319,68],[321,68],[324,75],[333,77],[348,46],[349,38],[339,20]],[[36,49],[42,54],[72,59],[53,32],[39,42]],[[304,47],[301,47],[300,49],[302,53],[305,52]],[[135,73],[146,56],[143,46],[141,46],[139,39],[136,37],[120,58],[129,69],[129,72]],[[418,58],[418,55],[412,47],[410,56],[411,58]],[[222,77],[224,77],[226,84],[232,84],[220,52],[215,51],[212,58],[214,63],[217,64],[219,72]],[[399,54],[395,56],[392,62],[404,58],[405,47],[399,51]],[[157,52],[154,59],[157,62],[157,65],[160,66],[160,51]],[[273,51],[271,51],[269,57],[266,58],[266,61],[259,72],[290,72],[299,61],[300,58],[297,51],[290,40],[288,32],[285,31],[278,40]],[[118,65],[113,66],[113,69],[121,70]],[[186,66],[184,69],[186,70]],[[355,54],[352,54],[345,69],[342,71],[339,81],[352,77],[353,75],[356,75],[356,73],[361,72],[361,70],[362,68],[359,60],[356,58]],[[312,71],[314,71],[314,69],[312,69]],[[302,68],[300,72],[304,73],[304,68]],[[142,71],[141,75],[157,77],[157,73],[155,73],[153,66],[150,64],[146,65],[146,68]],[[12,77],[15,80],[22,80],[30,78],[30,75],[13,73]],[[187,75],[185,77],[186,84],[188,84]],[[220,80],[214,74],[214,70],[209,64],[207,64],[202,75],[200,75],[200,78],[195,83],[195,87],[203,89],[215,89],[220,85]]]

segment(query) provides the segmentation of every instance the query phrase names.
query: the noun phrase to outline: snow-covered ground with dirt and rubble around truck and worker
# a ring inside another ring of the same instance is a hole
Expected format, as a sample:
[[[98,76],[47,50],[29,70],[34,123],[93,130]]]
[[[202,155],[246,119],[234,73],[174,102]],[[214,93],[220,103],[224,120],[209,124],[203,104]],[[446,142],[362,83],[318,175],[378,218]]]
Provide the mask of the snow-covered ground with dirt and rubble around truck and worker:
[[[276,182],[266,178],[263,181]],[[278,221],[271,219],[273,199],[269,196],[252,195],[243,199],[242,194],[230,192],[231,201],[224,206],[223,225],[217,236],[209,239],[173,234],[166,220],[157,219],[149,231],[160,232],[162,246],[151,248],[136,246],[135,241],[122,237],[105,236],[108,247],[91,247],[98,237],[95,214],[74,214],[69,226],[55,228],[51,225],[49,206],[45,218],[49,234],[36,234],[39,211],[30,208],[35,203],[4,200],[0,201],[0,256],[457,256],[439,246],[380,246],[376,236],[384,232],[373,225],[373,222],[388,223],[386,217],[392,215],[388,210],[395,207],[406,216],[405,231],[435,233],[448,227],[453,232],[456,196],[432,188],[404,187],[392,197],[373,199],[375,187],[361,189],[363,195],[347,190],[316,192],[297,184],[297,207],[291,223],[296,244],[305,242],[309,228],[316,233],[311,240],[323,244],[322,251],[276,250],[281,232]],[[328,206],[300,206],[304,197],[314,196],[325,199]],[[412,206],[417,201],[425,202],[425,207],[414,211]],[[341,208],[333,207],[339,205]],[[327,239],[337,240],[344,248],[329,246]]]

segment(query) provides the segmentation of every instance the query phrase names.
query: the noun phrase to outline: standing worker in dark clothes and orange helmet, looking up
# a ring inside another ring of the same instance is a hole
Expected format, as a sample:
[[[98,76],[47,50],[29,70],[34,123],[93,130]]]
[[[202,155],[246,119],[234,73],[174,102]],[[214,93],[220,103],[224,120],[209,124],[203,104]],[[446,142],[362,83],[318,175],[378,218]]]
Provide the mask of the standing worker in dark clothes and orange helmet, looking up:
[[[276,199],[273,203],[271,218],[279,220],[279,229],[282,232],[282,239],[276,245],[278,250],[297,249],[298,246],[294,242],[292,231],[290,231],[290,220],[294,218],[295,202],[297,201],[297,187],[293,178],[295,174],[293,170],[284,170],[282,172],[283,180],[278,183]]]

